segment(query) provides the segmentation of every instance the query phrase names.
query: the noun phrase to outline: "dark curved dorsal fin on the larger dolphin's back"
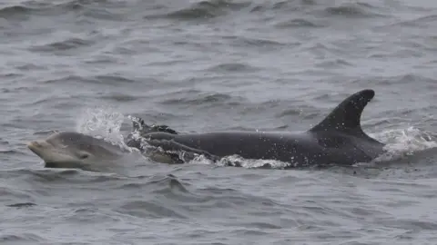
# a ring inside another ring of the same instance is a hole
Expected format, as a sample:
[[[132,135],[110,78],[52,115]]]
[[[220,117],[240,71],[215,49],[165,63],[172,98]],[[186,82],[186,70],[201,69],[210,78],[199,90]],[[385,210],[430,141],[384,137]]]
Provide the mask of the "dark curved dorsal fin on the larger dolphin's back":
[[[361,129],[361,113],[374,96],[375,92],[371,89],[353,93],[310,131],[336,130],[349,134],[366,135]]]

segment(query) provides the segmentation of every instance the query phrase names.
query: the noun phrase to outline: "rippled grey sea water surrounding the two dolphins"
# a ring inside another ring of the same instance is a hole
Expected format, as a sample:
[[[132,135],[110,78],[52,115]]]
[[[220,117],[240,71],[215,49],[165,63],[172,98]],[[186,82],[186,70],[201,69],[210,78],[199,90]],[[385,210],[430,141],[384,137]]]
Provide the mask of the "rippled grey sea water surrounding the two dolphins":
[[[0,4],[1,244],[436,244],[437,2],[34,0]],[[373,89],[382,162],[260,169],[137,159],[45,169],[53,131],[122,142],[304,131]]]

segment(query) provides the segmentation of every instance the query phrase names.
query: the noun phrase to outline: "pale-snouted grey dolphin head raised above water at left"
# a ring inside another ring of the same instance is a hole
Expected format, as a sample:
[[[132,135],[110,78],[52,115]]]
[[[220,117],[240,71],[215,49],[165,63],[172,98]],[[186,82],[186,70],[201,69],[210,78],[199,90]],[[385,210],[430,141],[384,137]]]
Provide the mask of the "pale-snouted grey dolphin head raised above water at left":
[[[80,132],[55,132],[27,147],[46,163],[46,168],[84,169],[98,162],[117,159],[123,150]]]

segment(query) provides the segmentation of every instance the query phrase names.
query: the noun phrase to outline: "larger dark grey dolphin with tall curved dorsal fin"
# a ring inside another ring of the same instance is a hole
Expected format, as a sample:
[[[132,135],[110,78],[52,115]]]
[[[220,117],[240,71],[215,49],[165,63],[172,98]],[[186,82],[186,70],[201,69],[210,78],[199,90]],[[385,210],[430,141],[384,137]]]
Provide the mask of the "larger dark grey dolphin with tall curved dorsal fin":
[[[324,120],[306,132],[144,132],[150,145],[165,151],[205,154],[212,160],[239,155],[276,160],[292,166],[351,165],[371,162],[384,144],[361,129],[361,113],[374,97],[371,89],[353,93]]]

